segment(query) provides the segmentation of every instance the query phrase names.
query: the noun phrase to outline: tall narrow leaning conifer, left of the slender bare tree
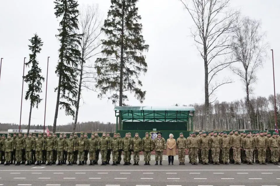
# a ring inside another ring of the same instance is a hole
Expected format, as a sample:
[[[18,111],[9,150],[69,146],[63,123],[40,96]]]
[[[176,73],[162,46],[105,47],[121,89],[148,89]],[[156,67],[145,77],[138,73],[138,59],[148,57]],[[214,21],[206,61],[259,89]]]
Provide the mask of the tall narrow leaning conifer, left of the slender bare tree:
[[[55,118],[53,123],[53,132],[56,130],[58,108],[64,108],[66,115],[75,115],[72,106],[76,105],[77,97],[77,76],[78,63],[81,52],[78,50],[81,35],[78,30],[78,3],[75,0],[55,0],[55,15],[62,17],[60,21],[59,34],[57,38],[60,41],[59,61],[55,73],[59,77],[57,91],[57,102],[55,108]]]

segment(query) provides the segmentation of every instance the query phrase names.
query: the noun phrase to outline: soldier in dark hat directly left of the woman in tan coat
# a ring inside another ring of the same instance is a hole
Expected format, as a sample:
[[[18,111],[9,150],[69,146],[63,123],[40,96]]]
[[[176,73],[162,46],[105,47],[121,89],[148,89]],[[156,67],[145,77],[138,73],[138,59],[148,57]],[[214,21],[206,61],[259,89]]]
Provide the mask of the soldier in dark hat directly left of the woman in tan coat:
[[[162,165],[163,151],[166,150],[166,141],[161,137],[161,134],[161,132],[158,132],[157,137],[153,141],[155,149],[155,165],[158,165],[158,159],[160,159],[160,165]]]

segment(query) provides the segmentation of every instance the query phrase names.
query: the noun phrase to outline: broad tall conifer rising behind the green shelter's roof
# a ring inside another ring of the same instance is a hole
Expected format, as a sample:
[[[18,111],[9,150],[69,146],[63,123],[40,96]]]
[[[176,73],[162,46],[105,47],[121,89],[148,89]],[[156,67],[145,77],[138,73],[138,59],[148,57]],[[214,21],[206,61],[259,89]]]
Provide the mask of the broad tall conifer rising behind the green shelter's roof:
[[[111,0],[108,17],[101,29],[107,36],[102,40],[101,53],[104,58],[97,58],[97,89],[99,98],[108,93],[113,104],[124,106],[128,100],[126,92],[133,93],[143,103],[146,91],[141,90],[139,76],[147,72],[146,56],[149,45],[141,35],[141,16],[135,6],[138,0]]]

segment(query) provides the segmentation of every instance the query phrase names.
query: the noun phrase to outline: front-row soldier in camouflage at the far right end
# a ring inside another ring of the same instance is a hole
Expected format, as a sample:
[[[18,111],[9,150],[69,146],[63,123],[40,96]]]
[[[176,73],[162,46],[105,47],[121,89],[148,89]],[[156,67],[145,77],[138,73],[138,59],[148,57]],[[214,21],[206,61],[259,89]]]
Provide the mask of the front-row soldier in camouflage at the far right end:
[[[268,140],[268,148],[271,150],[271,160],[274,165],[279,165],[279,147],[280,147],[280,138],[277,137],[277,133],[273,132],[273,136]]]

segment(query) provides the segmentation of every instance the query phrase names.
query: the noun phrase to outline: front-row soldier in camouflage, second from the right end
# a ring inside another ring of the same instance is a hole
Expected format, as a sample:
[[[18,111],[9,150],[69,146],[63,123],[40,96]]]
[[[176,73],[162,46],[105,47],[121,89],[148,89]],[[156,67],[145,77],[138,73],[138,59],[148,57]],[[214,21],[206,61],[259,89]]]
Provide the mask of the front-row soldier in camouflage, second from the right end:
[[[255,139],[255,147],[258,148],[259,163],[266,165],[265,163],[265,150],[267,149],[267,137],[263,135],[263,131],[260,131],[260,136]]]

